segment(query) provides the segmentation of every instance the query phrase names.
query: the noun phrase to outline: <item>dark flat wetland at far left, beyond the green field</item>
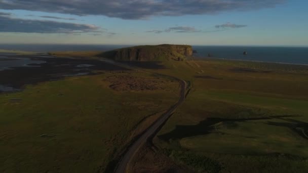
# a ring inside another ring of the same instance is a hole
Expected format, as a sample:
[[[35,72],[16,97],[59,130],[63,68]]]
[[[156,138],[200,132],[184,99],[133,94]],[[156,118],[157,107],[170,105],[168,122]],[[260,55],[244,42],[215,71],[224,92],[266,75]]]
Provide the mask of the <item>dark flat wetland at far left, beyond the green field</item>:
[[[23,56],[24,57],[24,56]],[[32,58],[43,60],[43,64],[31,64],[35,67],[13,67],[0,71],[0,85],[22,89],[25,84],[36,84],[38,82],[58,80],[65,76],[93,75],[94,70],[128,70],[98,60],[80,60],[69,58]],[[0,91],[1,93],[1,91]]]

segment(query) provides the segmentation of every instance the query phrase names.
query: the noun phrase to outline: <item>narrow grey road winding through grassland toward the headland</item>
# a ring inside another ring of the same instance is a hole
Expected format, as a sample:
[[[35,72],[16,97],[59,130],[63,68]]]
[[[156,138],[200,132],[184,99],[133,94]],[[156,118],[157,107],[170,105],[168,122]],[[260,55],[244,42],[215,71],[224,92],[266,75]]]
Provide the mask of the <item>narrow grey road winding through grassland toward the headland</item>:
[[[103,59],[102,61],[128,68],[127,65],[121,64],[119,62],[114,62],[112,60]],[[131,66],[129,68],[138,69],[138,68],[131,67]],[[138,69],[138,70],[140,70],[140,69]],[[145,70],[141,70],[141,71],[145,71]],[[159,74],[159,73],[155,73],[155,74]],[[160,75],[163,75],[163,74],[160,74]],[[163,75],[163,76],[167,76],[167,75]],[[126,152],[124,153],[120,162],[118,163],[117,167],[115,168],[115,171],[114,171],[115,173],[126,172],[128,163],[133,158],[135,153],[139,150],[139,148],[143,144],[145,144],[148,139],[150,139],[151,137],[153,137],[154,135],[156,135],[158,133],[160,128],[168,120],[168,118],[172,115],[172,113],[175,111],[175,109],[184,101],[185,91],[186,91],[186,82],[184,80],[176,78],[174,76],[168,76],[168,77],[171,77],[171,78],[178,80],[180,85],[181,85],[180,97],[179,97],[178,102],[175,105],[171,106],[157,121],[155,121],[151,126],[149,126],[142,133],[142,135],[130,145],[130,147],[128,148],[128,150],[126,150]]]

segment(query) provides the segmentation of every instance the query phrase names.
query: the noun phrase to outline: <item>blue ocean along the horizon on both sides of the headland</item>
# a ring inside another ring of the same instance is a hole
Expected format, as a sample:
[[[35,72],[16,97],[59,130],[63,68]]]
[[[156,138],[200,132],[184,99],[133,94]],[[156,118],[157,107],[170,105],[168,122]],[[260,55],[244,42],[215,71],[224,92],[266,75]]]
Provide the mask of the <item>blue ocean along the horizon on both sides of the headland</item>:
[[[33,52],[107,51],[132,45],[0,45],[0,49]],[[196,57],[308,65],[308,47],[193,46]],[[247,52],[247,55],[243,55]]]

